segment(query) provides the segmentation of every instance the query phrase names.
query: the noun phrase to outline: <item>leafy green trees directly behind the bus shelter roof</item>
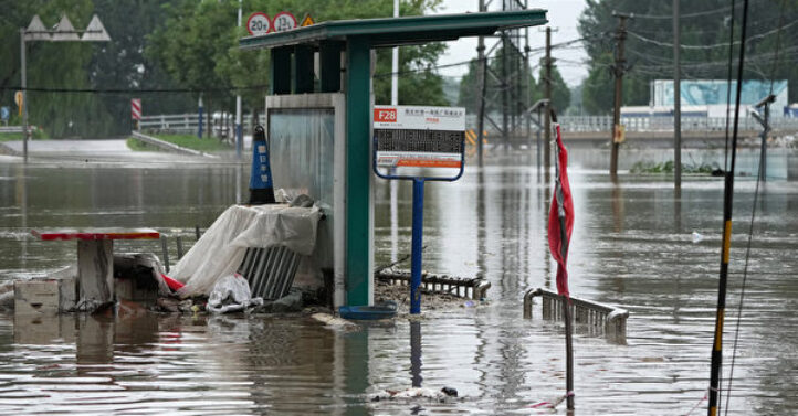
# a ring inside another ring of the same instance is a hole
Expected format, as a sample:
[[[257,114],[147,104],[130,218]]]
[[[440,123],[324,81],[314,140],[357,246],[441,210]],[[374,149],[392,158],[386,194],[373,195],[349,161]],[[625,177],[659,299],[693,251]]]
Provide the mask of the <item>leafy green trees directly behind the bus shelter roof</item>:
[[[402,15],[433,11],[440,0],[402,1]],[[262,11],[274,15],[291,11],[297,19],[311,13],[316,22],[327,20],[389,17],[389,0],[248,0],[243,2],[243,19]],[[238,2],[217,0],[179,0],[165,6],[166,23],[148,36],[146,56],[158,63],[180,85],[195,89],[216,89],[206,95],[206,106],[232,103],[240,89],[248,107],[260,107],[269,84],[269,51],[241,51],[238,40],[246,35],[245,28],[237,28]],[[445,105],[442,78],[431,66],[445,45],[432,43],[401,47],[399,52],[400,104]],[[391,55],[389,50],[377,53],[374,90],[377,103],[390,103]],[[260,86],[252,88],[253,86]],[[223,90],[218,90],[223,89]],[[218,107],[217,107],[218,108]]]

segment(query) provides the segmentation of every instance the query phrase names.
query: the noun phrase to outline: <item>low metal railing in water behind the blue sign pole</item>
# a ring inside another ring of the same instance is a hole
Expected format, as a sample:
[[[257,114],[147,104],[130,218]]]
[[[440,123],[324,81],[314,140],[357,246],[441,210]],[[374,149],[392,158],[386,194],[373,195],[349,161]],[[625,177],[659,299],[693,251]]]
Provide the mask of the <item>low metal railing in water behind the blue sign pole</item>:
[[[391,285],[408,285],[410,271],[384,270],[375,274],[375,278]],[[484,299],[491,282],[481,278],[454,277],[421,273],[421,287],[428,291],[454,295],[461,298]]]

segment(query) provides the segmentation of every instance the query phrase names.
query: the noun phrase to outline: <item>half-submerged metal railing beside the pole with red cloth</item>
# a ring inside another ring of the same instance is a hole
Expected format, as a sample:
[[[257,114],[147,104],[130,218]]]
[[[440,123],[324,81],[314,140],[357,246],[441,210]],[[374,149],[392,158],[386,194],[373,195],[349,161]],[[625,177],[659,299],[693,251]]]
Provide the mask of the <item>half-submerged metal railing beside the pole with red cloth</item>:
[[[563,319],[563,297],[557,292],[537,288],[524,294],[524,319],[532,319],[532,300],[535,297],[543,299],[543,319]],[[574,322],[585,324],[590,332],[603,334],[612,341],[624,342],[627,338],[626,309],[571,297],[570,312]]]

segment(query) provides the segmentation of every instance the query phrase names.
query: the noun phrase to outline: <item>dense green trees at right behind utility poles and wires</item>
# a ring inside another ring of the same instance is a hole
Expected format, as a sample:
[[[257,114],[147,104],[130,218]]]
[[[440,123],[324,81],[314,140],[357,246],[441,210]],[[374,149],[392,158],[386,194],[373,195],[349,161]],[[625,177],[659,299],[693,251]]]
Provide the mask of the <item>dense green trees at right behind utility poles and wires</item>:
[[[744,79],[788,79],[791,86],[798,85],[798,66],[791,62],[798,57],[795,45],[798,44],[798,31],[787,28],[777,34],[779,21],[787,25],[798,20],[798,2],[786,1],[784,14],[781,0],[763,0],[749,8],[748,42]],[[728,44],[731,12],[725,0],[682,1],[680,31],[682,45]],[[613,11],[634,13],[638,18],[627,21],[630,34],[626,41],[628,72],[623,76],[622,105],[648,105],[649,82],[652,79],[673,79],[673,20],[649,19],[645,15],[670,17],[673,14],[672,1],[653,0],[587,0],[579,18],[579,32],[590,36],[585,42],[588,54],[589,74],[584,83],[582,100],[585,110],[590,114],[610,114],[615,92],[615,77],[611,74],[616,41],[613,39],[618,19]],[[739,6],[739,3],[738,3]],[[742,8],[735,17],[735,40],[739,39]],[[718,11],[706,13],[708,11]],[[690,17],[693,13],[703,13]],[[632,35],[631,33],[637,34]],[[639,36],[651,39],[664,45],[645,42]],[[780,36],[780,56],[775,67],[776,41]],[[728,46],[706,49],[681,49],[681,71],[683,79],[726,79]],[[737,50],[735,50],[735,60]],[[735,61],[736,62],[736,61]],[[736,65],[736,63],[735,63]],[[798,88],[789,88],[790,103],[798,102]]]

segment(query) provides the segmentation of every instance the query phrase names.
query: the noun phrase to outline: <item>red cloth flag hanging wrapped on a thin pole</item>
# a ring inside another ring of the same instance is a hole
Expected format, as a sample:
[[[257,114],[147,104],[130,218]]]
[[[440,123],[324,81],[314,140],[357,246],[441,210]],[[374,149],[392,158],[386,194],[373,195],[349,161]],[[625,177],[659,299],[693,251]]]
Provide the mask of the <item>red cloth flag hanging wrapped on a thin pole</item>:
[[[548,213],[548,248],[552,257],[557,262],[557,292],[569,297],[568,294],[568,246],[570,233],[574,231],[574,200],[568,184],[568,151],[563,145],[559,124],[554,124],[557,139],[556,177],[554,183],[554,198],[552,210]]]

